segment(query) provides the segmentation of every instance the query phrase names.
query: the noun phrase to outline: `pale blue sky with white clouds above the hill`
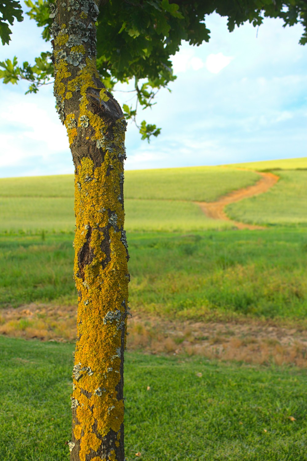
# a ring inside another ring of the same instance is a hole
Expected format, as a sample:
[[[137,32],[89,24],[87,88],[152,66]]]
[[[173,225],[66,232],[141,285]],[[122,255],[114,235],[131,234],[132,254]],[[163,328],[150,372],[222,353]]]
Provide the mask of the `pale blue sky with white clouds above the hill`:
[[[307,156],[307,46],[301,26],[266,19],[231,34],[227,20],[206,19],[211,41],[183,43],[173,57],[177,80],[139,114],[162,128],[150,144],[128,124],[126,169],[219,165]],[[13,27],[0,60],[33,61],[48,45],[33,21]],[[124,87],[121,86],[121,89]],[[27,84],[0,83],[0,177],[73,173],[52,85],[24,95]],[[131,94],[115,93],[123,104]]]

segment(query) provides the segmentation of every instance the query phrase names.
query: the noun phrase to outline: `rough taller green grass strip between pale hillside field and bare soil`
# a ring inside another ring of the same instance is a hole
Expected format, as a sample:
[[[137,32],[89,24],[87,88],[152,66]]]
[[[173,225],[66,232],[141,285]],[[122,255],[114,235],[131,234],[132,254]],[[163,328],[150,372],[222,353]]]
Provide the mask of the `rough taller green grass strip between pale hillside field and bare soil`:
[[[75,303],[73,235],[0,237],[0,306]],[[303,229],[129,233],[135,312],[204,320],[306,319]]]

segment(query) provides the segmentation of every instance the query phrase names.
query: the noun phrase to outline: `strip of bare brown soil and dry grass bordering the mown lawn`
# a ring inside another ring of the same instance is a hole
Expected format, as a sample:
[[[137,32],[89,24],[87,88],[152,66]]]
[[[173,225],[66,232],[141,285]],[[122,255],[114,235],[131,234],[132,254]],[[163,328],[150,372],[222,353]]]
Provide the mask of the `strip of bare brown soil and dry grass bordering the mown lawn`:
[[[72,342],[76,306],[30,304],[0,314],[0,333],[42,341]],[[202,355],[254,364],[307,367],[307,331],[248,320],[237,322],[171,321],[135,314],[128,322],[128,349],[151,354]]]

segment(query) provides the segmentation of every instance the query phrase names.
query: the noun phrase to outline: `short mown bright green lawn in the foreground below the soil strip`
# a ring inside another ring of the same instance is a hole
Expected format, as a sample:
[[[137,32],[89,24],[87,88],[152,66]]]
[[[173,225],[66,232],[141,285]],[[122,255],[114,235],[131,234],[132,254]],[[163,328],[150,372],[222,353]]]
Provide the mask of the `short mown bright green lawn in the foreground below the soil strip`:
[[[67,459],[73,349],[0,337],[1,461]],[[306,458],[306,370],[128,351],[124,395],[127,461]]]

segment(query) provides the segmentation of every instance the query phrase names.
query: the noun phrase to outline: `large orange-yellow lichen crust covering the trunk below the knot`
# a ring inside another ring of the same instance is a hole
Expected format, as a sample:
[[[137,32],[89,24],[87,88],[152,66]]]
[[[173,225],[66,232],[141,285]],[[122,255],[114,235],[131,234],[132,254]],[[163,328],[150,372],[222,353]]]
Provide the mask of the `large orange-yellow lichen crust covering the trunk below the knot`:
[[[121,135],[114,136],[113,142],[118,144],[120,152]],[[75,364],[80,364],[81,370],[85,371],[78,380],[74,379],[73,398],[78,401],[79,424],[75,426],[74,434],[80,439],[81,461],[91,449],[97,449],[99,439],[94,437],[94,425],[97,433],[104,437],[110,429],[118,432],[124,420],[124,402],[118,400],[115,389],[120,381],[120,348],[122,330],[126,331],[125,303],[128,300],[126,249],[120,232],[124,225],[124,210],[118,200],[122,171],[122,162],[107,151],[103,164],[96,168],[92,160],[83,158],[76,175],[74,272],[79,292],[79,339]],[[105,238],[109,240],[111,260],[103,267],[106,254],[101,249],[104,239],[101,229],[110,224],[110,211],[116,216],[119,231],[109,226]],[[84,266],[81,276],[78,254],[89,238],[93,259]],[[115,457],[110,459],[115,460]]]

